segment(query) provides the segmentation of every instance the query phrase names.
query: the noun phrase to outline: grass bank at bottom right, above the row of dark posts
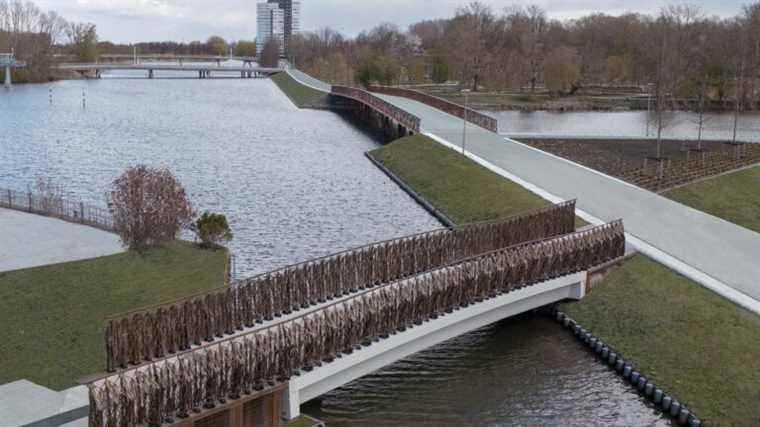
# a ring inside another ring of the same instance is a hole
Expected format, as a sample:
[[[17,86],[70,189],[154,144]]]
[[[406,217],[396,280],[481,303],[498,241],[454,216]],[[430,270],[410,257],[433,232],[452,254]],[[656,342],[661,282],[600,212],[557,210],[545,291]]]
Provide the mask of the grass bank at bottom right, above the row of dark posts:
[[[643,255],[562,310],[703,422],[760,425],[760,316]]]

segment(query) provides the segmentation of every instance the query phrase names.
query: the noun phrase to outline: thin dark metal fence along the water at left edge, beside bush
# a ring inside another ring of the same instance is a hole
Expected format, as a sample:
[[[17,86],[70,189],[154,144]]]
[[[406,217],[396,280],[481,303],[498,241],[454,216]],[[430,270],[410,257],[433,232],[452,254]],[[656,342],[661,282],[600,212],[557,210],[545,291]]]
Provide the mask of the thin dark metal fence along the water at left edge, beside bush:
[[[0,207],[59,218],[105,231],[114,230],[113,217],[107,209],[58,196],[0,189]]]

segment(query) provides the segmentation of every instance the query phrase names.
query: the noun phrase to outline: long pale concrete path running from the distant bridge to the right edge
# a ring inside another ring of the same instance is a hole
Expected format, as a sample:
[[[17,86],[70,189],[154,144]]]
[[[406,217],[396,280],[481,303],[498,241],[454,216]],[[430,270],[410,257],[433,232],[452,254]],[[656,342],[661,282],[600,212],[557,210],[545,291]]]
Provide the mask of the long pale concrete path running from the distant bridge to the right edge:
[[[461,147],[461,119],[410,99],[378,96],[419,116],[423,131],[439,142]],[[622,218],[637,249],[760,312],[760,234],[476,126],[467,127],[466,151],[538,193],[578,199],[591,219]]]

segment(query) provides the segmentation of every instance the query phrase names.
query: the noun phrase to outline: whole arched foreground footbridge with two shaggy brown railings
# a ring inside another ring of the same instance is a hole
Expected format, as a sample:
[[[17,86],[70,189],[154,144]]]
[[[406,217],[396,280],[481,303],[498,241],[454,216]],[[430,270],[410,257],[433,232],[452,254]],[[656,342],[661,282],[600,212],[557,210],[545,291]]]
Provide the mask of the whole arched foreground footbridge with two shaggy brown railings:
[[[569,202],[434,230],[110,319],[112,373],[91,380],[90,425],[200,425],[220,413],[253,425],[245,408],[266,393],[284,395],[270,410],[289,419],[409,354],[580,299],[588,270],[622,256],[625,238],[620,222],[575,232],[574,221]]]

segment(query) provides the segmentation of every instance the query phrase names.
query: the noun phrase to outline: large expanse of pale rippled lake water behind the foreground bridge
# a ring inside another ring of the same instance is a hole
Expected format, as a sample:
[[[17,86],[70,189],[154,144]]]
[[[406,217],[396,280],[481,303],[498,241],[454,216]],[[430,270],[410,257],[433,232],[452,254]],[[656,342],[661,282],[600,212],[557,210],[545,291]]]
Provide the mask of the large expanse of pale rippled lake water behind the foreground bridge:
[[[104,205],[125,167],[168,166],[198,210],[231,219],[238,276],[440,227],[364,157],[376,142],[266,79],[18,85],[0,124],[0,187],[46,175]]]

